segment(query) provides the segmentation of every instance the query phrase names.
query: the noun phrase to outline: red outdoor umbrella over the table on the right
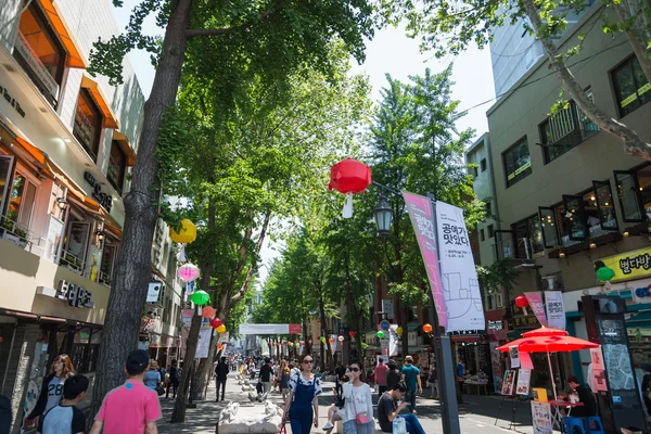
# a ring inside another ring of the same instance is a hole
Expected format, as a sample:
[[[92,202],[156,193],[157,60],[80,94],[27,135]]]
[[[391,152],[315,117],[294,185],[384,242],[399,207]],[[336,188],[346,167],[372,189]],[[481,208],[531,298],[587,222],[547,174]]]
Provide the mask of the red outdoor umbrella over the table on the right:
[[[523,337],[499,346],[497,349],[506,353],[509,350],[509,348],[516,346],[518,352],[521,353],[547,353],[547,362],[549,363],[549,373],[551,374],[551,385],[553,386],[554,399],[557,398],[557,392],[549,353],[567,353],[576,352],[578,349],[599,348],[599,344],[570,336],[564,330],[549,329],[546,327],[532,330],[531,332],[523,333],[522,335]]]

